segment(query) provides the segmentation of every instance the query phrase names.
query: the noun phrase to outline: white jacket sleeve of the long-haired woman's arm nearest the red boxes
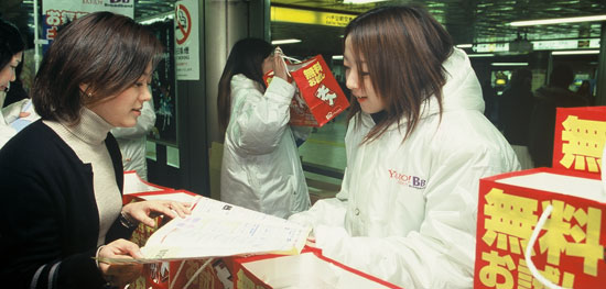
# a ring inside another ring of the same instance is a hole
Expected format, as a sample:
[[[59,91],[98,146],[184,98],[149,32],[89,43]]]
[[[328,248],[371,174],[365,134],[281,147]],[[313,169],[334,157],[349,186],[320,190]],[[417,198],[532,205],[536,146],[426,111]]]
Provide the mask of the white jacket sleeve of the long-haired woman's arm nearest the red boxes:
[[[313,227],[316,246],[329,258],[404,288],[470,288],[479,179],[506,170],[495,153],[452,154],[432,175],[419,231],[350,236],[342,226],[322,224]]]

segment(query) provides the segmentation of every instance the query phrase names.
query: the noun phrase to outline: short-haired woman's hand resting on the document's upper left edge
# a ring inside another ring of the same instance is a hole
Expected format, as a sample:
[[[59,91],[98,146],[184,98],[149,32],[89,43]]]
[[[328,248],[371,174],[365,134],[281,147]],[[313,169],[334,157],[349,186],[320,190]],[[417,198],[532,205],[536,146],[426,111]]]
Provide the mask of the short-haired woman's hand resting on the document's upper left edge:
[[[132,221],[141,222],[148,226],[155,226],[153,218],[158,215],[167,215],[171,219],[175,216],[185,218],[191,214],[191,204],[170,200],[152,200],[131,202],[122,208],[122,213]]]

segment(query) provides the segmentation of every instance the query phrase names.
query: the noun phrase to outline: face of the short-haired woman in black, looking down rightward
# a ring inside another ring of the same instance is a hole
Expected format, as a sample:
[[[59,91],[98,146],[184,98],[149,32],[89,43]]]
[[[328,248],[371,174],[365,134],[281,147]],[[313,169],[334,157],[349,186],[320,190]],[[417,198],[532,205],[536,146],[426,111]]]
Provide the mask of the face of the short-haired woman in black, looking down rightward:
[[[152,79],[152,66],[148,65],[145,73],[125,91],[108,97],[88,107],[109,124],[117,127],[132,127],[141,115],[143,102],[151,99],[148,88]]]

